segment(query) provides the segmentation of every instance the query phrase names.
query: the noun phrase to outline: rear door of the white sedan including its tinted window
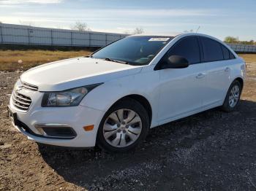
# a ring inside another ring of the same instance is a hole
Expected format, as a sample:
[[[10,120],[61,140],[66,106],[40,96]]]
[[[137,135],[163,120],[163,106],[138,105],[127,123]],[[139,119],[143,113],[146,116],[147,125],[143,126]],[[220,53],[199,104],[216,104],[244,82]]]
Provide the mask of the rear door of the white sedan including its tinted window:
[[[230,61],[232,55],[221,43],[214,39],[200,36],[203,49],[203,64],[207,70],[207,91],[203,106],[221,104],[230,85]],[[231,53],[232,54],[232,53]]]

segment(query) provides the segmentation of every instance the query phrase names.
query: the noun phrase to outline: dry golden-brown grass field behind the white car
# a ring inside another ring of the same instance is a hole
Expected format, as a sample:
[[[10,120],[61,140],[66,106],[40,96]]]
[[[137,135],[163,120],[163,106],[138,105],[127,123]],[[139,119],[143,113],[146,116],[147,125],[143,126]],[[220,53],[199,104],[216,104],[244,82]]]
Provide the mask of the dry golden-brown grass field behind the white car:
[[[0,50],[0,71],[27,70],[42,63],[66,58],[89,55],[88,50],[50,51],[50,50]],[[256,62],[256,54],[240,54],[246,62]]]

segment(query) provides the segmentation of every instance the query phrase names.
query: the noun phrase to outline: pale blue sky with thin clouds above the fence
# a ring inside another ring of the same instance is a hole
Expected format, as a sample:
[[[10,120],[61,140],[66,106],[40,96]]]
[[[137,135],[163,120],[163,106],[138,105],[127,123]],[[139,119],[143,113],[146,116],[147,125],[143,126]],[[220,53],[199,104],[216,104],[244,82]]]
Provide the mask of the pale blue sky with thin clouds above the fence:
[[[171,35],[197,31],[256,41],[256,0],[0,0],[0,21],[50,28]]]

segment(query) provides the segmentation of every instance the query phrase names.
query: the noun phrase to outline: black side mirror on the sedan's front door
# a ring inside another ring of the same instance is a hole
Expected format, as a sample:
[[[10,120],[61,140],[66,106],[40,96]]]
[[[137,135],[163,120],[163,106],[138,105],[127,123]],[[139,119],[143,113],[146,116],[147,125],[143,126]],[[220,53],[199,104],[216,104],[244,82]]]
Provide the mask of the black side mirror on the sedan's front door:
[[[162,63],[161,69],[184,69],[189,66],[189,61],[179,55],[171,55],[165,63]]]

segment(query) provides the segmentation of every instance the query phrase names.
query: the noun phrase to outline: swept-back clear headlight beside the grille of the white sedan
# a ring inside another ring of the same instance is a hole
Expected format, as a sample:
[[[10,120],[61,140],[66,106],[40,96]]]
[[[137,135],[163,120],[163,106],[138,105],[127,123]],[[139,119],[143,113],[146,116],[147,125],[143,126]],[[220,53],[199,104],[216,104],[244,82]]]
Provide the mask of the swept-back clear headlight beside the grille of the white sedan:
[[[46,92],[42,97],[42,106],[78,106],[83,97],[95,87],[102,85],[86,85],[61,92]]]

